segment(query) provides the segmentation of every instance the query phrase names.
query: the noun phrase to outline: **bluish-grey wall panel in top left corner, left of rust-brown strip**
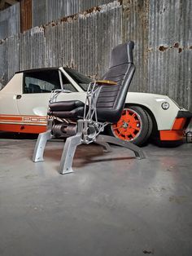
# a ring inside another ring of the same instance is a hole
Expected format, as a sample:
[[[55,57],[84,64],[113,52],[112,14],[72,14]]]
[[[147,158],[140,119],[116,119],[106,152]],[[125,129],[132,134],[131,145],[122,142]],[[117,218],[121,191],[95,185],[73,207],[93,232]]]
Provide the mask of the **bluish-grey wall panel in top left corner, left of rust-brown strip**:
[[[0,40],[20,33],[20,3],[0,11]]]

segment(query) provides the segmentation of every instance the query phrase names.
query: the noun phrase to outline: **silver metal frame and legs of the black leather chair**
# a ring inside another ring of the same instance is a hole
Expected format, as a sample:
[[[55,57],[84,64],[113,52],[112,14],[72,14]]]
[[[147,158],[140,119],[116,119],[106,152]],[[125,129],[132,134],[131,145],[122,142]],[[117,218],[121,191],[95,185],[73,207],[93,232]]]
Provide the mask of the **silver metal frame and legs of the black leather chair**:
[[[108,83],[103,83],[103,86],[108,86]],[[85,99],[84,118],[77,120],[76,135],[70,136],[68,139],[66,139],[59,166],[60,174],[69,174],[73,172],[72,161],[76,152],[76,147],[82,143],[98,143],[99,145],[103,146],[106,152],[111,152],[111,146],[109,143],[112,143],[130,149],[134,152],[135,157],[138,159],[145,158],[142,149],[133,143],[123,141],[108,135],[100,135],[100,133],[104,130],[104,127],[110,123],[98,121],[96,104],[99,90],[100,87],[98,82],[91,82],[89,84]],[[52,97],[53,99],[55,98],[54,95],[52,95]],[[48,139],[55,137],[54,129],[52,126],[54,119],[48,119],[48,130],[38,136],[37,143],[33,152],[33,161],[35,162],[44,161],[43,153],[46,147],[46,142]]]

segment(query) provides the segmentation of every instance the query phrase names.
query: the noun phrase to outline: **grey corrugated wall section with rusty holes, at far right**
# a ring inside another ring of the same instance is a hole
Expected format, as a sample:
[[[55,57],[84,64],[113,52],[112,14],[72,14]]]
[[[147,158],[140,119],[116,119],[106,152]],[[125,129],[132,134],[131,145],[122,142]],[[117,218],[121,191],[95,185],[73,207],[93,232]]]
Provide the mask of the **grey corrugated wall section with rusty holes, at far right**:
[[[151,1],[148,90],[192,110],[191,1]]]

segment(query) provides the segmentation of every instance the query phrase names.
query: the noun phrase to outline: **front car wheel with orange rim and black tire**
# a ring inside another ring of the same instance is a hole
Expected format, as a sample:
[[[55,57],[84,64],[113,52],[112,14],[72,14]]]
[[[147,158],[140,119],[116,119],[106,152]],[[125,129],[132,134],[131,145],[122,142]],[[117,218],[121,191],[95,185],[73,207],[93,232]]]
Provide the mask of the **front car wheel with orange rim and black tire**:
[[[128,117],[128,120],[124,121],[124,119],[127,118],[125,117],[125,113],[127,113],[128,116],[130,114],[131,119]],[[119,126],[117,126],[116,124],[115,126],[111,125],[108,127],[108,134],[113,135],[119,139],[129,140],[137,146],[142,146],[144,143],[147,142],[147,140],[151,136],[153,122],[149,113],[147,113],[145,109],[139,106],[127,106],[124,108],[121,118],[122,119],[117,122]],[[122,120],[124,121],[124,124],[120,126]],[[135,129],[133,127],[134,123],[137,123],[137,125],[135,125]]]

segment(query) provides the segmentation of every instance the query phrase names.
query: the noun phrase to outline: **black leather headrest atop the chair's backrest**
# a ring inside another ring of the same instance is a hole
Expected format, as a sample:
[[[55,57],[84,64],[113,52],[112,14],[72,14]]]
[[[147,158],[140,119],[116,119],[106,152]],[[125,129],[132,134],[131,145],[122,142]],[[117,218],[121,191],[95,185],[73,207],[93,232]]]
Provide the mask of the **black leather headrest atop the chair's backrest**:
[[[133,48],[133,41],[122,43],[113,48],[111,51],[110,68],[125,63],[133,64]]]

